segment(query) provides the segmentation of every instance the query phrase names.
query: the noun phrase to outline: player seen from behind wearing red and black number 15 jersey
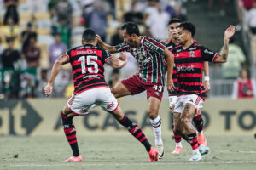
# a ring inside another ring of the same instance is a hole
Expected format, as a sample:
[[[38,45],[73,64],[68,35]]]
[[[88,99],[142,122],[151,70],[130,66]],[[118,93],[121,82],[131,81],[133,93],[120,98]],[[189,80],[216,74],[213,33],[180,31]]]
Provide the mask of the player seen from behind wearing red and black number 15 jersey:
[[[121,125],[126,127],[145,146],[150,158],[149,161],[158,161],[158,150],[149,144],[141,128],[125,116],[117,99],[114,98],[105,81],[103,74],[104,63],[107,63],[113,68],[122,68],[127,62],[126,55],[121,53],[119,59],[115,59],[111,57],[108,51],[96,47],[96,33],[90,29],[84,31],[82,44],[82,46],[69,49],[66,54],[63,54],[55,61],[49,82],[44,88],[44,93],[49,96],[53,90],[55,77],[61,70],[61,65],[67,63],[72,65],[75,89],[73,96],[68,99],[67,104],[61,112],[64,133],[73,150],[73,156],[65,160],[65,162],[83,161],[79,153],[73,116],[88,114],[87,110],[93,104],[99,105],[103,110],[111,113]]]

